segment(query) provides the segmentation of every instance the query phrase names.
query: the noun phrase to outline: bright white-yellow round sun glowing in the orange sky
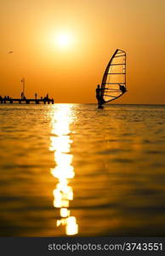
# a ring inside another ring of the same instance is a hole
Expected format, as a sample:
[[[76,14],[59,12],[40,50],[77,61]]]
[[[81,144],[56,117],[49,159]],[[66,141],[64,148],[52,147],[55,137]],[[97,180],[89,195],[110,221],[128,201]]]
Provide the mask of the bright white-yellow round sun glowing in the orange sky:
[[[73,44],[73,36],[70,32],[60,32],[56,36],[56,44],[60,48],[68,48]]]

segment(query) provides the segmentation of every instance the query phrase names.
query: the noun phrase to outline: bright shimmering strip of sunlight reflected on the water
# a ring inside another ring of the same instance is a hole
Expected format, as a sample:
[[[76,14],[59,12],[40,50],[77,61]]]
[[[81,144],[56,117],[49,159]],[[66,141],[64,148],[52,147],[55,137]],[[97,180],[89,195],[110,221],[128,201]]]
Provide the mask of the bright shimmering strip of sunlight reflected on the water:
[[[70,201],[73,200],[73,189],[70,179],[75,177],[74,167],[71,166],[73,155],[71,152],[71,130],[73,121],[71,105],[60,104],[52,115],[52,136],[50,137],[50,150],[54,151],[55,167],[51,174],[58,179],[54,194],[54,207],[60,209],[60,219],[56,225],[65,226],[65,235],[78,233],[77,218],[71,216]]]

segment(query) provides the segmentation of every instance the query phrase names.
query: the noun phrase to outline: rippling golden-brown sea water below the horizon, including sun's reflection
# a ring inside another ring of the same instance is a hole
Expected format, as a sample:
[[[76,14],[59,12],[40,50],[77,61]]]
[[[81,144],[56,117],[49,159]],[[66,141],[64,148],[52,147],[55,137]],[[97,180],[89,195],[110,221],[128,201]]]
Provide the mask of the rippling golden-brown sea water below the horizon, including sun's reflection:
[[[0,236],[165,236],[165,106],[0,106]]]

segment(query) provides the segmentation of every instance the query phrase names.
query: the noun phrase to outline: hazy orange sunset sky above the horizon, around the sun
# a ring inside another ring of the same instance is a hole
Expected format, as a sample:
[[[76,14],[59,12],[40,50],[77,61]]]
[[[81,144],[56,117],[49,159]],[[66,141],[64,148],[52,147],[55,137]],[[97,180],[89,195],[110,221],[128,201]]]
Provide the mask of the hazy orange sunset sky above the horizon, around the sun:
[[[1,0],[0,95],[96,102],[116,49],[127,89],[114,103],[165,104],[164,0]],[[13,51],[13,53],[9,53]]]

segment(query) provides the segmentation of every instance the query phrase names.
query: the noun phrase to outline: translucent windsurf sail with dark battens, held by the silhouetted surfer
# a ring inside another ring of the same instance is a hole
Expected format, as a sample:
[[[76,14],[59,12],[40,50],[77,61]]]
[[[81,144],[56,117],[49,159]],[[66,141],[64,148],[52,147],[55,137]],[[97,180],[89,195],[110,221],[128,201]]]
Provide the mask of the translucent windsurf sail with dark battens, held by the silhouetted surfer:
[[[102,102],[111,102],[126,92],[126,53],[117,49],[109,61],[101,84]]]

